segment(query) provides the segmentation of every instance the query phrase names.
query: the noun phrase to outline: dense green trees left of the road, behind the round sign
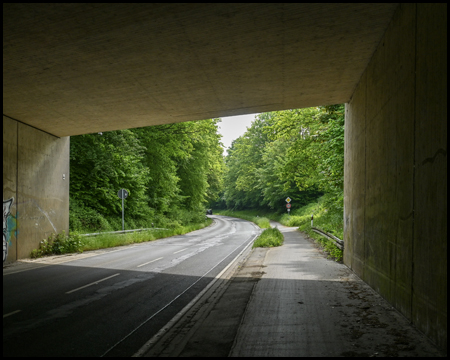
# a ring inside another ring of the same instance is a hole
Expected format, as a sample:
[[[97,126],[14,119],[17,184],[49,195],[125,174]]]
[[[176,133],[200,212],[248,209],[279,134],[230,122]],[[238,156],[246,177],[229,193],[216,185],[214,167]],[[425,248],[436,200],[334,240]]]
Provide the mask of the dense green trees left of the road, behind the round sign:
[[[219,119],[71,137],[70,229],[177,227],[204,220],[223,188]]]

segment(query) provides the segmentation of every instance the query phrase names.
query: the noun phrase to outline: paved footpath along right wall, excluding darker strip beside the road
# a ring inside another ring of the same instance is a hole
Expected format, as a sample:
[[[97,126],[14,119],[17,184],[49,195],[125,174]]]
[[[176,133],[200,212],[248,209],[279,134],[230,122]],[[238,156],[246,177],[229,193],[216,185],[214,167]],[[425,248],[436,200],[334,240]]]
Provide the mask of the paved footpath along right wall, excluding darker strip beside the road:
[[[439,356],[435,347],[345,265],[295,228],[276,225],[231,356]]]

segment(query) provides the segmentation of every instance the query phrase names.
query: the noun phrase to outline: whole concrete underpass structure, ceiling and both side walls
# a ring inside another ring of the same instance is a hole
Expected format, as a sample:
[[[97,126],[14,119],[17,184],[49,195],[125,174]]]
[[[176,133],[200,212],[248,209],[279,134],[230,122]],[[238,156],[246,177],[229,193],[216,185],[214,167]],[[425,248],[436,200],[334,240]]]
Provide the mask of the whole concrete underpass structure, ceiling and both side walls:
[[[446,350],[446,4],[4,4],[4,263],[68,230],[70,135],[344,102],[344,261]]]

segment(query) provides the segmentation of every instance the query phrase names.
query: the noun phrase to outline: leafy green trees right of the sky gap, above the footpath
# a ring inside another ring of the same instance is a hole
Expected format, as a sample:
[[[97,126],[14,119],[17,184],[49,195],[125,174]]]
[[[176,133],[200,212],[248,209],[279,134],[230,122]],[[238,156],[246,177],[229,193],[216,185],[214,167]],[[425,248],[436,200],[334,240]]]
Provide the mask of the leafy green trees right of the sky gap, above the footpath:
[[[284,210],[287,196],[302,206],[327,193],[341,203],[343,146],[343,105],[260,114],[228,152],[224,201]]]

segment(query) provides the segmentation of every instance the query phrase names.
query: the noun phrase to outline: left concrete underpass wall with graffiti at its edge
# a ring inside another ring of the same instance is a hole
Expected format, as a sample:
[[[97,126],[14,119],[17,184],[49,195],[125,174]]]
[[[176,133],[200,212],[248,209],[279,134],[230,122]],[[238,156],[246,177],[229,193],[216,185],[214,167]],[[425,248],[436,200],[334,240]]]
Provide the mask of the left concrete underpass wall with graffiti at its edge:
[[[69,230],[70,138],[3,116],[3,262]],[[63,179],[63,175],[65,179]]]

